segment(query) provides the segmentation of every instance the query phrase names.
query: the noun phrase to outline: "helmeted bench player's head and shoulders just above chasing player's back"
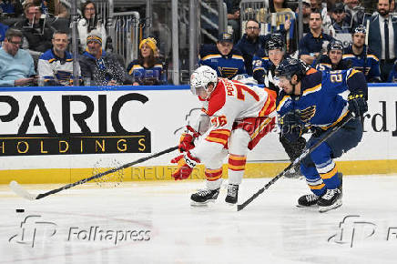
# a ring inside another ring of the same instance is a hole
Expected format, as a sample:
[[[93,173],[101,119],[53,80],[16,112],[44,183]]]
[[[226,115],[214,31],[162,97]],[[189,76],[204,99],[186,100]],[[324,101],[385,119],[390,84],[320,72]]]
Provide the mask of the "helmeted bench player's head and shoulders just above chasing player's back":
[[[327,54],[321,55],[313,62],[313,67],[320,71],[347,70],[351,67],[349,61],[342,60],[343,44],[339,40],[332,40],[327,46]]]

